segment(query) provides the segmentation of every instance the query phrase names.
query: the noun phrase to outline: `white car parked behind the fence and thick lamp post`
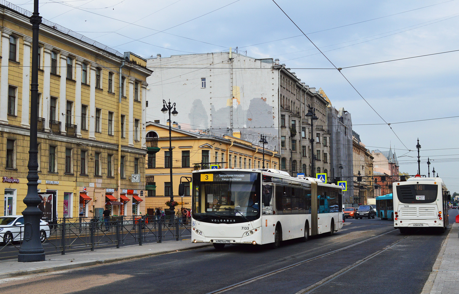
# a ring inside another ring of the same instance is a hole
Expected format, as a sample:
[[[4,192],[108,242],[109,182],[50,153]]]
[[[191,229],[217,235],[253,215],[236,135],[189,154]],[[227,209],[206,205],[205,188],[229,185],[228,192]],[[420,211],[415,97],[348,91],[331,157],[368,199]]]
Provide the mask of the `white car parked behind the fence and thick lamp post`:
[[[50,236],[50,227],[40,220],[40,241]],[[21,241],[24,238],[24,216],[0,216],[0,241],[4,244]]]

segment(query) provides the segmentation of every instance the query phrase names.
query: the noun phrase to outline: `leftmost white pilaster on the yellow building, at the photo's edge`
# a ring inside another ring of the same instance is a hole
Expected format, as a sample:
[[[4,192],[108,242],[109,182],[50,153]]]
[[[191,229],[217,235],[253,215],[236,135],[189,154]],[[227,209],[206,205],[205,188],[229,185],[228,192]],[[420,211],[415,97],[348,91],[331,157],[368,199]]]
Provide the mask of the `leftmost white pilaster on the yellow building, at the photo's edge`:
[[[11,33],[6,28],[1,30],[0,123],[8,123],[8,57]]]

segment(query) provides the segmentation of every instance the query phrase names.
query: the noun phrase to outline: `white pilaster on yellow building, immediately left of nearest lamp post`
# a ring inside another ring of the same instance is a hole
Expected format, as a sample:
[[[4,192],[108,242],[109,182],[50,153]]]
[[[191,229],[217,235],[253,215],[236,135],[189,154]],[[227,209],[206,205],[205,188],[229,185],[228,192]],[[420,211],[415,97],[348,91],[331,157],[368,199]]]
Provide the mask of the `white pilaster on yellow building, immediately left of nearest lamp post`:
[[[30,50],[32,49],[32,38],[23,37],[24,53],[22,58],[22,107],[21,107],[21,126],[30,128],[29,124],[29,102],[30,102]]]

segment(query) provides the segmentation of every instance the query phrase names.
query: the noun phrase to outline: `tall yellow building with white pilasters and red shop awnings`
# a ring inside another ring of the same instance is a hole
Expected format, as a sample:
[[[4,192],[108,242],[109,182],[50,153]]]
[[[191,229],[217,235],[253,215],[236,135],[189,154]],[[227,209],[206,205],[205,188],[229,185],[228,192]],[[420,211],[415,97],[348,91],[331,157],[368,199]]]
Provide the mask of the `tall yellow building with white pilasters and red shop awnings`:
[[[0,11],[0,209],[14,215],[26,208],[32,26],[29,11]],[[146,60],[45,19],[39,33],[44,218],[143,214]]]

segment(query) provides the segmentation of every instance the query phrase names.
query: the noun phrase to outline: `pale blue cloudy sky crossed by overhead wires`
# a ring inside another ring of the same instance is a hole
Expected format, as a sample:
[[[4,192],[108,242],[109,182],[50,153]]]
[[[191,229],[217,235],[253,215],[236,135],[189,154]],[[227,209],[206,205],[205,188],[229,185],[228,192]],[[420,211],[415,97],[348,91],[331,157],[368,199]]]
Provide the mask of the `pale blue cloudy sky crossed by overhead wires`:
[[[33,0],[11,2],[33,10]],[[419,137],[421,174],[429,156],[431,168],[459,192],[459,117],[436,119],[459,116],[459,51],[353,67],[459,50],[459,0],[276,2],[375,111],[336,69],[301,69],[333,66],[272,0],[40,0],[40,15],[144,57],[238,47],[279,58],[351,112],[370,150],[392,146],[401,172],[417,172],[417,151],[409,150]],[[435,120],[411,122],[427,119]]]

